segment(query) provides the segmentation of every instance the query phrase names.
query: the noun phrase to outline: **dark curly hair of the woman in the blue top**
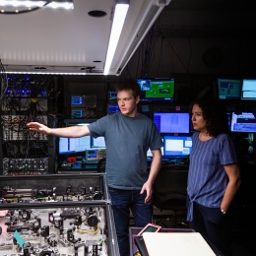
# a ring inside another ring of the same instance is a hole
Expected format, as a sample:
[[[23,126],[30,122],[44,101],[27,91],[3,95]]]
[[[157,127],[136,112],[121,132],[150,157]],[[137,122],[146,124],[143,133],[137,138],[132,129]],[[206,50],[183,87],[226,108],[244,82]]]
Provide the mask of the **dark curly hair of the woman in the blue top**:
[[[194,104],[202,108],[206,129],[210,136],[216,137],[221,133],[228,133],[228,118],[220,100],[203,97],[195,99],[190,105],[190,113]]]

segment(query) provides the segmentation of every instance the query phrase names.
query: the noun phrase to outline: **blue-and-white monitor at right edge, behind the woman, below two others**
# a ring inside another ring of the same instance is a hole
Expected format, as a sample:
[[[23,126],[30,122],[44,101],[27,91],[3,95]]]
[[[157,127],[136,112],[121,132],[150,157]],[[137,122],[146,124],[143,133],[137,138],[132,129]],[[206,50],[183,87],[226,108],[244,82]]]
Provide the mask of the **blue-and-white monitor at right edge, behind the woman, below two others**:
[[[256,132],[256,118],[252,112],[232,112],[231,117],[231,132]]]

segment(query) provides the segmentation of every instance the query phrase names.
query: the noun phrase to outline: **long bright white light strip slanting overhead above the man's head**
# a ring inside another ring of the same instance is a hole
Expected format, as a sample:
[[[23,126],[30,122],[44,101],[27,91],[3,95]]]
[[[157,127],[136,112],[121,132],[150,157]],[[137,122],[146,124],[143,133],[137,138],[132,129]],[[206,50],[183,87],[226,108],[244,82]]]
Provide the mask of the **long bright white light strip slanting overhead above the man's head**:
[[[114,52],[123,29],[124,21],[129,9],[128,3],[117,3],[114,10],[114,19],[105,59],[104,75],[107,75],[113,60]]]

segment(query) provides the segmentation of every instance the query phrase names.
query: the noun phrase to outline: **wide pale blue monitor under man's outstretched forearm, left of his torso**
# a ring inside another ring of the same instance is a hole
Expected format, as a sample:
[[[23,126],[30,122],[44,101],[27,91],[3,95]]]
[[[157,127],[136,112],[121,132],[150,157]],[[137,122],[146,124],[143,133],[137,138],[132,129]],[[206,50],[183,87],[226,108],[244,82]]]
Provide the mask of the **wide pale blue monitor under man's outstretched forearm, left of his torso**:
[[[85,153],[91,148],[91,136],[81,138],[59,137],[59,155]]]

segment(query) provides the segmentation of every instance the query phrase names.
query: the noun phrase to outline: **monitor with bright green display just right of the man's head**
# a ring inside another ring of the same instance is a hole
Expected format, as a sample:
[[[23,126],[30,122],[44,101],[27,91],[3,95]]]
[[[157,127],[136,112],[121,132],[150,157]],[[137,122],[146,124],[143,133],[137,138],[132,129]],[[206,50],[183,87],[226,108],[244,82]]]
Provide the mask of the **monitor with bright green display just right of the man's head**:
[[[141,101],[173,101],[174,79],[137,79]]]

